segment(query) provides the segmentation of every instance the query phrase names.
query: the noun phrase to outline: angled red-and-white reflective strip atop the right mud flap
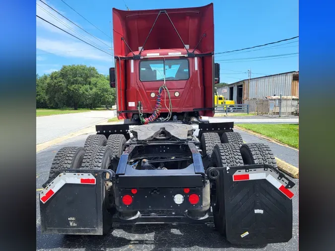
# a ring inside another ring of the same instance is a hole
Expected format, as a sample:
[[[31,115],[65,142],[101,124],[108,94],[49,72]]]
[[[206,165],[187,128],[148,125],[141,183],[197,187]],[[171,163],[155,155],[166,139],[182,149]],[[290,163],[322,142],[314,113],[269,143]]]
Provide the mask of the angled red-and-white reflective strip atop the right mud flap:
[[[272,186],[284,193],[289,199],[292,199],[294,196],[294,193],[290,190],[290,188],[286,188],[288,180],[283,177],[279,177],[279,175],[271,169],[250,169],[249,172],[239,170],[233,175],[233,181],[252,180],[267,180]],[[288,185],[288,187],[290,186]]]

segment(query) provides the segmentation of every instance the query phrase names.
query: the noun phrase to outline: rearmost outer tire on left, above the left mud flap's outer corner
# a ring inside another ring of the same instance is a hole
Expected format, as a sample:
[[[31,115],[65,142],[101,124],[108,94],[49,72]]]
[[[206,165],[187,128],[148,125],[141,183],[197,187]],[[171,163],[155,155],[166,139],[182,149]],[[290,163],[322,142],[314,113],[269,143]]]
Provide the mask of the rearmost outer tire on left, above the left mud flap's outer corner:
[[[71,146],[61,148],[51,165],[49,178],[61,169],[79,169],[84,157],[85,149],[83,147]]]

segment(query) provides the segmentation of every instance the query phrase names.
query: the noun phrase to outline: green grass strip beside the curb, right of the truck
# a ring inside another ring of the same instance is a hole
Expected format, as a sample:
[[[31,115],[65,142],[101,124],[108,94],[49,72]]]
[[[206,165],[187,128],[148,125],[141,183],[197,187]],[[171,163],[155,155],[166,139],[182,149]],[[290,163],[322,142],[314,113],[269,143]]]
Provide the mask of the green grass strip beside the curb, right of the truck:
[[[298,124],[236,124],[240,127],[261,133],[282,143],[299,148]]]

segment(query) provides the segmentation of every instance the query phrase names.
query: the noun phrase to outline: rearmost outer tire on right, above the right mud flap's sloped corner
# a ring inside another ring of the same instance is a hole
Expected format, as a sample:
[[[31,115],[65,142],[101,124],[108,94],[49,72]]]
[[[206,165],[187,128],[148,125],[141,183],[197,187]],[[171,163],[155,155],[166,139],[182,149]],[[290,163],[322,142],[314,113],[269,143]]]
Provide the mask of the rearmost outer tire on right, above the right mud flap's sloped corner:
[[[243,144],[240,151],[245,165],[268,164],[278,168],[275,157],[267,144]]]

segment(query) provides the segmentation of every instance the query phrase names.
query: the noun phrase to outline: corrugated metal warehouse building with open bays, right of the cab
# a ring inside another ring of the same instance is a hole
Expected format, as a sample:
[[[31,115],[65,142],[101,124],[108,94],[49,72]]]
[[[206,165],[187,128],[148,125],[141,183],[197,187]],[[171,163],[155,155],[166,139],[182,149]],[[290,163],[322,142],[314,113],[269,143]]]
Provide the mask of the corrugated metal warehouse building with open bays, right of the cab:
[[[264,77],[241,80],[220,88],[217,94],[235,104],[245,100],[265,99],[268,96],[299,96],[299,71],[284,72]]]

